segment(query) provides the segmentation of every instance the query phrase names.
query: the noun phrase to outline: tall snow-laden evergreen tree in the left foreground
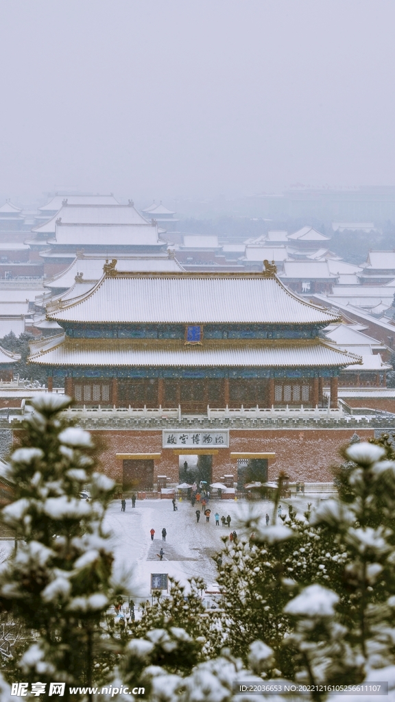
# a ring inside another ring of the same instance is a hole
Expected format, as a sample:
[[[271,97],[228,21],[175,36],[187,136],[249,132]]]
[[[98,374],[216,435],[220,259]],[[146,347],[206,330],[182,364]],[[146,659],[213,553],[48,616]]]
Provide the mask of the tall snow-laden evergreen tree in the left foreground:
[[[52,394],[34,399],[9,461],[15,501],[0,519],[20,541],[0,567],[0,607],[33,639],[13,680],[20,670],[32,682],[90,684],[103,644],[101,616],[114,592],[102,526],[113,482],[94,470],[89,433],[62,417],[70,402]],[[83,486],[89,501],[80,498]]]

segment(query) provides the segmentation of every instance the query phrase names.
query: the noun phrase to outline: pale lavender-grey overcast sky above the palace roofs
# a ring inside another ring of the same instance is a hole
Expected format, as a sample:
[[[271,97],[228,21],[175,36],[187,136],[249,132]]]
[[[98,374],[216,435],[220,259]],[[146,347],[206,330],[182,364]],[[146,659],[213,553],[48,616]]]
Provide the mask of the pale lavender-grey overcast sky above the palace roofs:
[[[395,185],[394,0],[2,0],[0,194]]]

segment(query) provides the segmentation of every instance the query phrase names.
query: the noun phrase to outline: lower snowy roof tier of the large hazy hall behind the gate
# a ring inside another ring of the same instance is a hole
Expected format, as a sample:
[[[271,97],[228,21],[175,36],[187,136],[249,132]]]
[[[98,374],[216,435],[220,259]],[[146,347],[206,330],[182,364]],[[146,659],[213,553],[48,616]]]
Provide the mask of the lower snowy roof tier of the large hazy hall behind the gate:
[[[61,246],[163,246],[157,237],[157,225],[57,224],[56,242]]]

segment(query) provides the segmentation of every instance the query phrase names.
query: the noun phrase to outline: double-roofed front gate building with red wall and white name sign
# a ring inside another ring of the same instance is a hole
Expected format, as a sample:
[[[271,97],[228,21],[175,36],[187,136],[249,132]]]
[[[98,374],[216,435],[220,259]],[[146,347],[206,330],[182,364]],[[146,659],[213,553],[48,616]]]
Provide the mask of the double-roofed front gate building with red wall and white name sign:
[[[320,338],[336,314],[288,290],[267,262],[264,272],[147,273],[112,260],[87,293],[49,303],[47,318],[63,331],[32,342],[30,362],[46,366],[49,389],[65,383],[75,416],[104,438],[103,470],[124,486],[178,482],[180,455],[198,456],[209,479],[236,480],[242,459],[261,461],[266,477],[277,454],[276,470],[299,479],[301,432],[294,424],[279,459],[278,413],[303,416],[306,431],[332,421],[339,371],[361,362]],[[329,457],[321,445],[313,479],[328,479],[333,446]]]

